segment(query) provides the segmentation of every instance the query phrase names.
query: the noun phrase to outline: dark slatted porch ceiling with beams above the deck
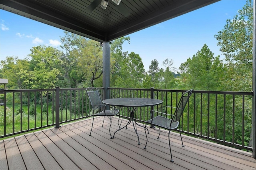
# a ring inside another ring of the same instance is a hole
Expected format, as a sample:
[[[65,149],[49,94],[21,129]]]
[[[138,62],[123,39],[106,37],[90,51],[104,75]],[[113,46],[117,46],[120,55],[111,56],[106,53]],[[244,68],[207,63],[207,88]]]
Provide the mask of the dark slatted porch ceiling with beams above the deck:
[[[0,8],[96,40],[112,41],[219,0],[1,0]]]

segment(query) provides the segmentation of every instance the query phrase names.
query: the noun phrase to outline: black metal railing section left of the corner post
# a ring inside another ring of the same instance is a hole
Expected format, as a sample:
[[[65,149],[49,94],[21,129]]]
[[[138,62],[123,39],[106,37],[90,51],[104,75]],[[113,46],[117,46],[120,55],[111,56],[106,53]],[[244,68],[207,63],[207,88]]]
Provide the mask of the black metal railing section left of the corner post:
[[[1,90],[0,99],[0,138],[92,115],[84,88]]]

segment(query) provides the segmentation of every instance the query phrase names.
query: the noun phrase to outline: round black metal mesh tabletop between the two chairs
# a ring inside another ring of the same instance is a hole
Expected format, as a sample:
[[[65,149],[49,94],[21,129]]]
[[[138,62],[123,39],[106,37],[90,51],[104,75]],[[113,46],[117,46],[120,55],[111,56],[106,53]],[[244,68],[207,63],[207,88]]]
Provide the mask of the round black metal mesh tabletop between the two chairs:
[[[124,106],[124,107],[144,107],[159,105],[163,101],[159,99],[148,99],[148,98],[114,98],[105,99],[102,101],[104,104],[112,106]]]

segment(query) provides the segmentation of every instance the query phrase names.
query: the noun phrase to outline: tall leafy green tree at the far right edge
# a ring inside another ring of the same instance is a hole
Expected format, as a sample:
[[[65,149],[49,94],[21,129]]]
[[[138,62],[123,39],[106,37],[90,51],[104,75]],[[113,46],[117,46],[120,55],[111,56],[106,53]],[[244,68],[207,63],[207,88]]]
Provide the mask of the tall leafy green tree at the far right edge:
[[[252,91],[252,48],[253,48],[253,2],[247,0],[246,4],[232,20],[227,20],[224,29],[215,35],[218,40],[217,45],[220,51],[225,55],[225,71],[221,81],[222,90],[225,91]],[[232,100],[232,99],[230,99]],[[251,98],[244,99],[245,103],[250,103]],[[235,118],[241,120],[242,97],[236,100],[241,107],[236,108]],[[248,106],[251,110],[252,105]],[[226,107],[227,113],[232,110],[232,105]],[[226,130],[232,134],[234,130],[234,140],[242,143],[241,136],[246,136],[244,141],[249,143],[251,132],[251,113],[245,110],[244,116],[244,134],[242,134],[242,123],[226,119]],[[221,126],[220,126],[221,127]],[[226,133],[229,134],[229,133]],[[231,135],[226,136],[226,140],[232,139]]]

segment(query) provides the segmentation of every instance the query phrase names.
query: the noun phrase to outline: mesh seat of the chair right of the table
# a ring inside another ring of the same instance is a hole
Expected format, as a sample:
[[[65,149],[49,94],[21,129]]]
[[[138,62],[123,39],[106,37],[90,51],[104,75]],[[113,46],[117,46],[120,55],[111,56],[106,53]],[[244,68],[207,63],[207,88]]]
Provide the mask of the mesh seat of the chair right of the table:
[[[149,121],[146,121],[148,124],[151,123],[150,119]],[[158,126],[158,127],[162,127],[162,128],[166,128],[166,129],[170,129],[170,123],[171,123],[172,119],[163,117],[161,115],[158,115],[157,117],[153,118],[153,121],[151,124]],[[173,121],[171,124],[171,129],[176,129],[179,126],[179,122],[177,121]]]

